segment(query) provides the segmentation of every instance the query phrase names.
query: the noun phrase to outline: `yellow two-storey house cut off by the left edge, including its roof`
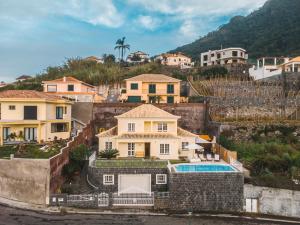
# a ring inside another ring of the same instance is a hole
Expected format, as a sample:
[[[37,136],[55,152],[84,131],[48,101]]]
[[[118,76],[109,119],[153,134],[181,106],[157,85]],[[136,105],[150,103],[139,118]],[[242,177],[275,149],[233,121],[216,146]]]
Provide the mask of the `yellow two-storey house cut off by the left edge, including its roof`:
[[[68,139],[71,102],[31,90],[0,92],[0,145],[11,141]]]

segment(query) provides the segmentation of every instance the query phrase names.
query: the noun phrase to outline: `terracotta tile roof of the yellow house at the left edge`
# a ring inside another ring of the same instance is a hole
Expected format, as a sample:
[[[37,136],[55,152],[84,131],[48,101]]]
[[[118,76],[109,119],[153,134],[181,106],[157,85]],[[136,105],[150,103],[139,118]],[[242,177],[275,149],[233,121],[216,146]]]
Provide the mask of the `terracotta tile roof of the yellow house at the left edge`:
[[[49,101],[65,100],[59,96],[33,90],[7,90],[0,92],[0,98],[9,99],[44,99]],[[66,101],[66,100],[65,100]]]

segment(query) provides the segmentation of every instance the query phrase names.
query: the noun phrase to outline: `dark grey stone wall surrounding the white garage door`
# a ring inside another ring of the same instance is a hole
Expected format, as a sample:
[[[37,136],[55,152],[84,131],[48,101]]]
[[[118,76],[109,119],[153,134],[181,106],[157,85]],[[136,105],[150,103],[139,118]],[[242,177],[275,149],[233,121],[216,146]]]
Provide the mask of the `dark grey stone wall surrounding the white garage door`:
[[[93,185],[99,187],[99,192],[114,193],[118,191],[118,175],[119,174],[151,174],[151,190],[166,191],[168,184],[156,184],[156,174],[167,174],[167,168],[97,168],[89,167],[89,180]],[[103,175],[113,174],[114,185],[103,185]]]

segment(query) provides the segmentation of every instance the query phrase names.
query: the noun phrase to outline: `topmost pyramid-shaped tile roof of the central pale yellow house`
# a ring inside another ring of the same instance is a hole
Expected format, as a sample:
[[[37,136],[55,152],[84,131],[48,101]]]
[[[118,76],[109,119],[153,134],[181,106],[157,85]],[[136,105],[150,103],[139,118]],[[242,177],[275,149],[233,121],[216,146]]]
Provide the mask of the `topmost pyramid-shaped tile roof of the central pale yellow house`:
[[[162,118],[162,119],[179,119],[180,116],[172,115],[154,105],[143,104],[116,118]]]

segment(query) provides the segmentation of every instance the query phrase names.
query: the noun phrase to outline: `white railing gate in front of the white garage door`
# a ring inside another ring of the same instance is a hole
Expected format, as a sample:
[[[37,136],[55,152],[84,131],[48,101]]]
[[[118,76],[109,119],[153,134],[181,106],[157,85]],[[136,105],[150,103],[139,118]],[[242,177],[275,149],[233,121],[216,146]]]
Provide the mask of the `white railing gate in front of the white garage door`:
[[[154,194],[119,194],[113,193],[114,206],[153,206]]]

